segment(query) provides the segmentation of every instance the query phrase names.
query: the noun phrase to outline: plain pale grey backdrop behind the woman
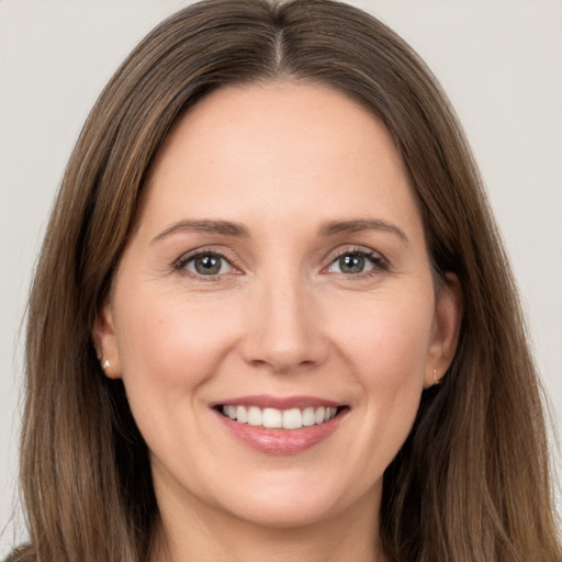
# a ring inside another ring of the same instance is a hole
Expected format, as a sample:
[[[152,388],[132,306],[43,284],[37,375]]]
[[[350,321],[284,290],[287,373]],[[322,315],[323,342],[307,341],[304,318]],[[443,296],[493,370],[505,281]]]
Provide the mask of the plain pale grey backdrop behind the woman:
[[[54,194],[113,70],[186,3],[0,0],[0,558],[25,538],[15,484],[20,328]],[[562,1],[351,3],[418,50],[464,124],[520,286],[553,426],[561,428]]]

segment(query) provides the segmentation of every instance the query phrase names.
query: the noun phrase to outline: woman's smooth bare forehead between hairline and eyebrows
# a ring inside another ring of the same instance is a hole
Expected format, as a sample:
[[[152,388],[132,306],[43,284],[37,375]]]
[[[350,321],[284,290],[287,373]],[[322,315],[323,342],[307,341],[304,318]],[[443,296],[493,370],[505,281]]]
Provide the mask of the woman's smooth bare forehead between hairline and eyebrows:
[[[418,218],[380,120],[330,87],[295,81],[225,87],[193,106],[149,170],[142,215],[148,210],[162,220],[212,213],[238,221],[256,210],[293,221],[373,212]]]

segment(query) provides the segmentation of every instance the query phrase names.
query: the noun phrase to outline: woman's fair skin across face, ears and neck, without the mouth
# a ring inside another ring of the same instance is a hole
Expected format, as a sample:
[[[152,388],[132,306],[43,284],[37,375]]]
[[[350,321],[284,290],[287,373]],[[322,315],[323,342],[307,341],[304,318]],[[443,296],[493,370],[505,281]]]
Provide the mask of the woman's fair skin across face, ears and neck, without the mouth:
[[[181,221],[246,233],[169,232]],[[326,232],[350,221],[378,223]],[[223,255],[220,273],[178,265],[194,249]],[[342,270],[358,251],[374,261]],[[289,80],[199,102],[150,169],[94,328],[150,450],[154,559],[383,560],[382,475],[452,360],[460,307],[453,276],[436,296],[403,165],[366,109]],[[272,456],[210,406],[255,394],[348,411],[327,439]]]

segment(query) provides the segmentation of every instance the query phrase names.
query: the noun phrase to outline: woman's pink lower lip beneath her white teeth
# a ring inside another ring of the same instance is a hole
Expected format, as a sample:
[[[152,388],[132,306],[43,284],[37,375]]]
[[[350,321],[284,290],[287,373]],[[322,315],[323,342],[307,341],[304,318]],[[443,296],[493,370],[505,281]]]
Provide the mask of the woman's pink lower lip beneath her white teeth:
[[[244,443],[259,452],[282,456],[297,454],[327,439],[338,428],[346,413],[347,411],[339,412],[329,422],[300,429],[269,429],[240,424],[220,412],[216,415],[231,434]]]

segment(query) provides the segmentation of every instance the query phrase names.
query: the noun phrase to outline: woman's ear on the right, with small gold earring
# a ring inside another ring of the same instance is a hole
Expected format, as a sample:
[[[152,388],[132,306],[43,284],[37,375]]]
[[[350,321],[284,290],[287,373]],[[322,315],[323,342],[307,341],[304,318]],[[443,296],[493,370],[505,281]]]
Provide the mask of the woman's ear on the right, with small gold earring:
[[[454,273],[446,273],[438,290],[434,329],[429,344],[424,389],[440,381],[452,362],[462,321],[462,290]],[[435,371],[434,371],[435,370]]]

